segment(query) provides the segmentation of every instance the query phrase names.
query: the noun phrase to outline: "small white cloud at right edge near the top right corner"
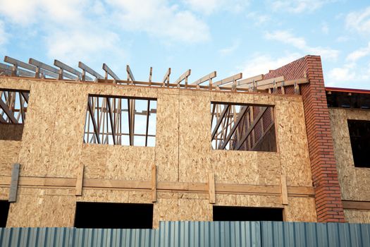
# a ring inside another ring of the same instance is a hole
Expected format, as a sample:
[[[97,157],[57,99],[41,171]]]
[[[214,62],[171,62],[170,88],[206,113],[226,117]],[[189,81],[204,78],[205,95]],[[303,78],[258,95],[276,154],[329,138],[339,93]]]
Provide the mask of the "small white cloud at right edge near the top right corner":
[[[361,11],[347,14],[345,26],[349,30],[357,30],[361,33],[370,33],[370,6]]]

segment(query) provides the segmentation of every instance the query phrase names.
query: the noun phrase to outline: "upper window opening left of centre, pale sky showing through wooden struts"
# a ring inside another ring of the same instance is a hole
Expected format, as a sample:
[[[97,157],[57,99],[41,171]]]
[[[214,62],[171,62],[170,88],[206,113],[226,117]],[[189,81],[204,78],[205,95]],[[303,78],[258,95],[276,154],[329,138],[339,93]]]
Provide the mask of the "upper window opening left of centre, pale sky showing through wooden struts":
[[[154,147],[156,99],[90,95],[84,142]]]

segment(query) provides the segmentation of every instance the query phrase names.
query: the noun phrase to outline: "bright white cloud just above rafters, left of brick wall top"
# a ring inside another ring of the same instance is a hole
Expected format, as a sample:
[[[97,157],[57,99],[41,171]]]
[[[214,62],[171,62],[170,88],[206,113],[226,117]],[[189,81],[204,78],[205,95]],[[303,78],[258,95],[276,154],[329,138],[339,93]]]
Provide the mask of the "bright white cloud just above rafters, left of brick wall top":
[[[269,70],[280,68],[285,64],[289,64],[292,61],[299,59],[301,54],[287,54],[278,58],[273,58],[268,54],[254,54],[248,59],[245,64],[238,67],[238,70],[242,71],[243,78],[257,76],[264,73],[269,73]]]

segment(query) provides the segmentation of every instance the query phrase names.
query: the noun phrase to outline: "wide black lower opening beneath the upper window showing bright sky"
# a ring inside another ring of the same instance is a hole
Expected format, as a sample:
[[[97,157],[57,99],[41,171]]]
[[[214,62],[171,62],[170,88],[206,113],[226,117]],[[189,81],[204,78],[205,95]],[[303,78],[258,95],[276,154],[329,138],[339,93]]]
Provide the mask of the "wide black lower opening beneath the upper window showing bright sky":
[[[132,203],[77,203],[75,227],[152,229],[153,205]]]

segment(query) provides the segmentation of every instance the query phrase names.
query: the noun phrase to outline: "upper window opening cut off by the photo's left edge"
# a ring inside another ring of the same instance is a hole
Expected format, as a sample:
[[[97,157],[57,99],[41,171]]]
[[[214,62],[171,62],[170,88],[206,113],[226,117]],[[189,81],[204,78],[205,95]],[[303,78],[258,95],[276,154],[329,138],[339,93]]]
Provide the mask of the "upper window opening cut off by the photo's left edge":
[[[0,140],[22,140],[29,91],[0,89]]]

